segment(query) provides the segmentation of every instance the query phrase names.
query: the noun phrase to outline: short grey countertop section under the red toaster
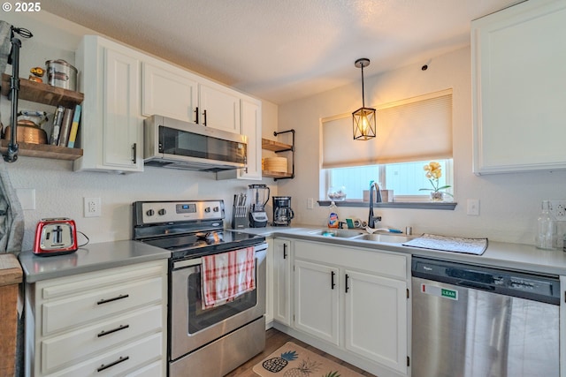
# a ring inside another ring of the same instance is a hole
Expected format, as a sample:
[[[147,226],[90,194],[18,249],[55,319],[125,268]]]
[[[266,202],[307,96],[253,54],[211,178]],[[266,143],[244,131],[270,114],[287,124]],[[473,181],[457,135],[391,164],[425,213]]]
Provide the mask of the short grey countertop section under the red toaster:
[[[142,242],[124,240],[89,244],[74,253],[37,256],[19,253],[26,283],[76,275],[105,268],[117,268],[149,260],[168,259],[171,252]]]

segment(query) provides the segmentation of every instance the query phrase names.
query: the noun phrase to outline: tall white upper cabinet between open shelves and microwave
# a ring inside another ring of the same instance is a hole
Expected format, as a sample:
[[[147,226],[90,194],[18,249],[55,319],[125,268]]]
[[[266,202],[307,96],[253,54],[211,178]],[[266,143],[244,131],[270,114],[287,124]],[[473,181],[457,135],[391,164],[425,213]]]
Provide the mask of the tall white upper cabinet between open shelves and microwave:
[[[74,170],[143,170],[141,58],[98,36],[86,35],[80,42],[76,64],[85,100],[78,144],[83,155]]]

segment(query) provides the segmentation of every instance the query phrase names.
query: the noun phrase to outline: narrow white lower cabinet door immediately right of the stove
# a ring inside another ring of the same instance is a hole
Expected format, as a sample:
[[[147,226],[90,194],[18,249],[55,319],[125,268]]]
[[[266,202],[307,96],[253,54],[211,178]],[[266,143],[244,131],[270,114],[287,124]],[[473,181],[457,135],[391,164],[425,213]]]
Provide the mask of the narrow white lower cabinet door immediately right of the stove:
[[[273,242],[273,320],[291,324],[291,245],[288,239]]]

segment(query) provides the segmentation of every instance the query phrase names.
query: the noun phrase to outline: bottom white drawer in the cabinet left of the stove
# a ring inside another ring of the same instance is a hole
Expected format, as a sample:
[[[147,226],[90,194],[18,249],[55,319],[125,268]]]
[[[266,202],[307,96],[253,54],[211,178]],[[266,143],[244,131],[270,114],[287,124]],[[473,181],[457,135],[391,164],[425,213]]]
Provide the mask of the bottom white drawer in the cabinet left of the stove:
[[[121,373],[129,375],[149,365],[149,363],[163,359],[163,337],[159,333],[128,343],[124,347],[105,353],[98,358],[91,358],[77,366],[49,375],[58,377],[105,377]]]

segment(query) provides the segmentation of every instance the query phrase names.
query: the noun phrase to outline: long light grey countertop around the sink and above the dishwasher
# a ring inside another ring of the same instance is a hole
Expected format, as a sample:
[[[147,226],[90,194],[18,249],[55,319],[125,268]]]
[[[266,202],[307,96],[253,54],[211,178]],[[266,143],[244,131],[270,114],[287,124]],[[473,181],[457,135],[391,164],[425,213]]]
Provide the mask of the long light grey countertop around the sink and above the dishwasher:
[[[474,265],[510,268],[538,274],[566,275],[566,253],[562,252],[562,250],[540,250],[533,245],[488,241],[485,253],[482,255],[472,255],[421,249],[403,246],[402,244],[379,243],[362,239],[328,238],[310,233],[312,230],[317,229],[323,228],[310,225],[295,225],[292,227],[247,228],[241,231],[260,234],[265,237],[299,238],[326,242],[333,245],[348,245],[397,253],[410,253],[412,255],[440,260],[454,260]],[[360,231],[364,230],[360,229]],[[413,237],[418,237],[418,235],[413,235]]]

